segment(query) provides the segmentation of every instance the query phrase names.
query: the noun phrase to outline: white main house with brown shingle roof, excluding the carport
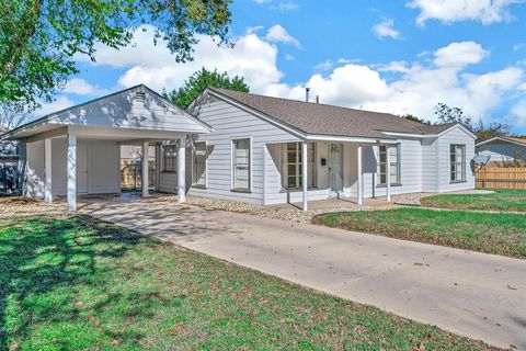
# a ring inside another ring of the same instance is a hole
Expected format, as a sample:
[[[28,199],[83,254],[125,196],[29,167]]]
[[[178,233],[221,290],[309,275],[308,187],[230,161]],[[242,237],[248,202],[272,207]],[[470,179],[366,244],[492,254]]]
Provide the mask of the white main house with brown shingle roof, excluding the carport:
[[[191,194],[282,204],[302,201],[304,185],[308,200],[358,202],[388,188],[392,194],[474,188],[476,136],[460,124],[224,89],[205,90],[190,112],[213,128],[194,143],[203,156],[194,157],[199,171]]]

